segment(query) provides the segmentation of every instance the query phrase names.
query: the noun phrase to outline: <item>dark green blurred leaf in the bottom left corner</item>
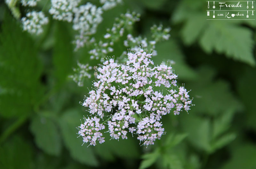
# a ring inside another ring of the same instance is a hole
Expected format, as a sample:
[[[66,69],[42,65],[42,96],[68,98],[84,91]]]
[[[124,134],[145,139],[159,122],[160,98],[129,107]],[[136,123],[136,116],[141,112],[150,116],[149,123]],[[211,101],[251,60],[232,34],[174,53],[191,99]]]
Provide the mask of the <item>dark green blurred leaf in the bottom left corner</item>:
[[[14,135],[2,146],[0,145],[0,168],[34,168],[31,144],[20,135]]]

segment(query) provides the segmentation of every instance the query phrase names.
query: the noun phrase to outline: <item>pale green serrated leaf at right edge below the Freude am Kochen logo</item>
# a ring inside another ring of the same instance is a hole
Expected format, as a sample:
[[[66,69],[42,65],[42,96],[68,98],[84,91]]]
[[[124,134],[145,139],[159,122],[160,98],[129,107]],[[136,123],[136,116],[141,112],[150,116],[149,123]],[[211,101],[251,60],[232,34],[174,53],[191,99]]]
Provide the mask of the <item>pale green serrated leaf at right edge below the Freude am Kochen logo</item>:
[[[213,49],[227,57],[255,66],[252,31],[241,26],[212,22],[199,41],[206,52]]]

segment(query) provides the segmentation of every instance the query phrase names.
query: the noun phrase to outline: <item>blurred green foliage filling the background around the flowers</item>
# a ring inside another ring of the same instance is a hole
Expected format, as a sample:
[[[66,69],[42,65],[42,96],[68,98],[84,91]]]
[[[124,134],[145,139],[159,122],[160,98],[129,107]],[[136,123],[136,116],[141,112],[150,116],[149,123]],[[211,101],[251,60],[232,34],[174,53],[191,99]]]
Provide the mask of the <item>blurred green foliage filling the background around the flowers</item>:
[[[256,168],[256,22],[209,21],[206,6],[124,0],[103,15],[98,38],[127,9],[141,14],[134,35],[150,37],[153,24],[170,26],[171,38],[156,45],[153,60],[175,62],[196,106],[163,117],[166,135],[148,148],[131,136],[86,147],[76,135],[87,115],[78,102],[93,78],[82,88],[68,79],[77,60],[89,60],[86,47],[74,52],[68,23],[51,20],[39,37],[22,32],[1,2],[0,168]]]

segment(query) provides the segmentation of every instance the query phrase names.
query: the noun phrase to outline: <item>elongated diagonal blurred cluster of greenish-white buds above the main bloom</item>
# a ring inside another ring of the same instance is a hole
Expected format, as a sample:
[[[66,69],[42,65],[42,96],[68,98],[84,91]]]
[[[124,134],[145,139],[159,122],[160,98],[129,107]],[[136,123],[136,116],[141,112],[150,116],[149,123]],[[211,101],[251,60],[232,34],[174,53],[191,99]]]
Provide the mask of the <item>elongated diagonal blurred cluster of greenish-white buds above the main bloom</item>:
[[[116,18],[111,29],[107,29],[104,35],[104,41],[95,43],[93,49],[89,51],[90,59],[102,59],[107,56],[107,53],[113,52],[114,43],[124,35],[125,30],[132,29],[132,25],[140,20],[140,14],[135,12],[126,12],[121,14],[120,18]]]

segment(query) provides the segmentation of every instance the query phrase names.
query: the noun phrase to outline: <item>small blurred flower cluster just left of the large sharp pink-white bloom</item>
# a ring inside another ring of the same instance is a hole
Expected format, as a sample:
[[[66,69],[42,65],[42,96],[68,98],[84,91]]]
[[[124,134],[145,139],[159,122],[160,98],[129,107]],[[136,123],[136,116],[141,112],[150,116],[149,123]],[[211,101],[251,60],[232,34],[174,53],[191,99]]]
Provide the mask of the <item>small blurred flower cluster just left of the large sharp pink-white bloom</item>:
[[[74,68],[73,71],[75,72],[74,75],[70,75],[69,78],[73,79],[77,83],[78,86],[84,86],[84,78],[91,78],[91,74],[89,71],[92,70],[92,67],[89,64],[81,64],[77,62],[77,68]]]

